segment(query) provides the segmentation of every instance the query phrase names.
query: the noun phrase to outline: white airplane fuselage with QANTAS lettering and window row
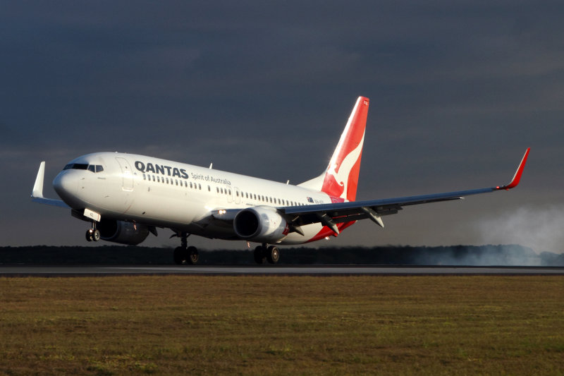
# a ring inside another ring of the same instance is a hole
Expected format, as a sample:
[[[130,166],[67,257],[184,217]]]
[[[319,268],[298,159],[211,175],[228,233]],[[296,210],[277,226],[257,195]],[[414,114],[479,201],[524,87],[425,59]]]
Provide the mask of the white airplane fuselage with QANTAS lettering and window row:
[[[74,210],[208,238],[233,238],[232,226],[206,222],[219,210],[331,203],[326,193],[300,186],[117,152],[74,159],[56,176],[54,188]],[[322,227],[303,226],[303,236],[290,233],[278,243],[305,243]]]

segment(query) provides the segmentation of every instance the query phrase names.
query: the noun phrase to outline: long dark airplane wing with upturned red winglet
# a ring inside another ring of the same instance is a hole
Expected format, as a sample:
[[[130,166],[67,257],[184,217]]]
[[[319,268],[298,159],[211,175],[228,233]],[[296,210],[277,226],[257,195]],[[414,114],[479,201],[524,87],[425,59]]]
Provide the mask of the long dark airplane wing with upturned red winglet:
[[[383,200],[366,200],[353,202],[338,202],[334,204],[305,205],[295,207],[279,207],[278,211],[283,214],[288,222],[295,227],[305,224],[321,222],[338,234],[336,224],[343,222],[354,222],[359,219],[372,219],[373,222],[384,227],[381,216],[396,214],[407,205],[427,204],[430,202],[441,202],[449,200],[460,200],[465,196],[478,195],[480,193],[495,192],[496,190],[509,190],[515,188],[521,179],[525,163],[529,156],[530,147],[521,159],[517,171],[510,183],[505,186],[491,188],[479,188],[472,190],[458,190],[456,192],[435,193],[432,195],[408,196],[402,198],[386,198]]]

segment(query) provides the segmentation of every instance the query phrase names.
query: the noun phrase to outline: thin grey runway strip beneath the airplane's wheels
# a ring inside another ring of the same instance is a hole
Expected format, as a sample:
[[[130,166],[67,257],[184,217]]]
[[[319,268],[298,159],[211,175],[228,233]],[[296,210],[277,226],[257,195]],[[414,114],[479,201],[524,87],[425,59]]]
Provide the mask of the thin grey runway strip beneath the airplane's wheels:
[[[87,277],[115,275],[564,275],[564,267],[396,266],[0,266],[1,277]]]

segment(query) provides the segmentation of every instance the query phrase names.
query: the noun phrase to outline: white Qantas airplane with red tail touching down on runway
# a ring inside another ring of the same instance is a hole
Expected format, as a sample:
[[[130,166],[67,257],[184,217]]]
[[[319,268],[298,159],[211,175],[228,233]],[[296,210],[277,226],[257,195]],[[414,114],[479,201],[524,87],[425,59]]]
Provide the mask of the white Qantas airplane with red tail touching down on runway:
[[[32,200],[71,209],[90,222],[87,241],[137,245],[157,228],[180,238],[178,265],[196,264],[191,234],[259,243],[255,262],[278,262],[278,245],[319,241],[360,219],[384,227],[382,217],[405,206],[460,200],[515,188],[527,162],[527,148],[504,186],[430,195],[356,201],[369,99],[358,97],[325,171],[297,186],[144,155],[95,152],[68,162],[53,181],[59,199],[43,197],[45,162],[39,165]],[[173,237],[171,236],[171,237]]]

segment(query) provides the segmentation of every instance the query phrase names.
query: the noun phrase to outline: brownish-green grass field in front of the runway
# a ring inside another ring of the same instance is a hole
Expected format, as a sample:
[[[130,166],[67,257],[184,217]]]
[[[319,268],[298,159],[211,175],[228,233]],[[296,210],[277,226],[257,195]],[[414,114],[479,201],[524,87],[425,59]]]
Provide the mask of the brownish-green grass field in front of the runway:
[[[0,375],[564,375],[564,277],[0,278]]]

